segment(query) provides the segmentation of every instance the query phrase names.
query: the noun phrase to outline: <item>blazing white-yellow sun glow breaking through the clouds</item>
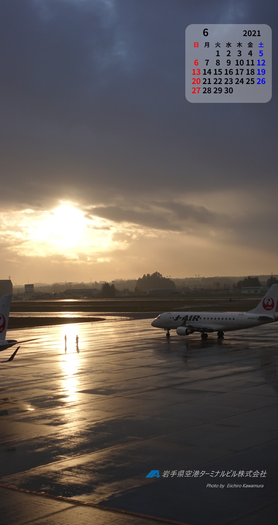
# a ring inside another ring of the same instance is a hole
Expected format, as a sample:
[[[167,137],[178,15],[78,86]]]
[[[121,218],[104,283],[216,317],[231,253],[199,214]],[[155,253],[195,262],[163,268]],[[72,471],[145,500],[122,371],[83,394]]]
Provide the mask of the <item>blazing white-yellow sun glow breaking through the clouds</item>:
[[[17,255],[108,262],[112,251],[127,248],[120,235],[125,228],[122,232],[119,224],[77,203],[59,201],[53,209],[27,208],[4,219],[0,239],[1,234],[13,239],[11,249]]]

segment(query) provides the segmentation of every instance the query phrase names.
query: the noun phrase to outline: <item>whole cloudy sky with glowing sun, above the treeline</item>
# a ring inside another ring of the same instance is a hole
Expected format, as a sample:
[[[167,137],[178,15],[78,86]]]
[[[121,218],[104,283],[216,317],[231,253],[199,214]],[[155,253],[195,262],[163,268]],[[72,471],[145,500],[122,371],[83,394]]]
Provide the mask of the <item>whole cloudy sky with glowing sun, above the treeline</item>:
[[[277,274],[277,2],[0,0],[1,278]],[[267,103],[191,104],[189,24],[268,24]]]

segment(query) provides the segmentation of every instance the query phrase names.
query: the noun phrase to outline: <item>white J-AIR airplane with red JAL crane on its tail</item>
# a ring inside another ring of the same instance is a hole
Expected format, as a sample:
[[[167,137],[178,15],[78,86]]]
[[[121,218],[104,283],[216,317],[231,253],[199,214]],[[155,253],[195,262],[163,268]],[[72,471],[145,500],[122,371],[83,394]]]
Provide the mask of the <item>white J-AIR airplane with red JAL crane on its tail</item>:
[[[217,332],[219,338],[224,332],[243,330],[278,321],[275,314],[278,297],[278,284],[272,285],[258,306],[248,312],[164,312],[151,323],[152,327],[167,330],[176,329],[178,335],[200,332],[202,339],[209,333]]]

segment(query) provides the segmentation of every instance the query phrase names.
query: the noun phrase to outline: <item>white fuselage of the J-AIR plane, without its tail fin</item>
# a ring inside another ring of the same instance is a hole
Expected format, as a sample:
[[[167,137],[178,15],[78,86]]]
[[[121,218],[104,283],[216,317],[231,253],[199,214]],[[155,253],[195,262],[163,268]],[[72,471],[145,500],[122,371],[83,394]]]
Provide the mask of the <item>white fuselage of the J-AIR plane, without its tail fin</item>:
[[[275,322],[278,320],[276,315],[256,314],[251,312],[165,312],[161,313],[151,325],[164,330],[177,329],[183,327],[195,327],[193,331],[232,331],[252,328]],[[198,325],[200,330],[198,330]],[[203,330],[202,330],[203,329]]]

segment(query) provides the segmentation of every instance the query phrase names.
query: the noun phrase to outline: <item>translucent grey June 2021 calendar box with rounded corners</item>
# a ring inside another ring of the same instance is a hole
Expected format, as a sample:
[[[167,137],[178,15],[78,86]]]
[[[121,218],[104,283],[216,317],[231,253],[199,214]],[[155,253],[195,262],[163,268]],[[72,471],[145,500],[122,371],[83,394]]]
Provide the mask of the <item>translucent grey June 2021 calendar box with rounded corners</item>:
[[[189,102],[268,102],[272,31],[266,24],[191,24],[186,28]]]

